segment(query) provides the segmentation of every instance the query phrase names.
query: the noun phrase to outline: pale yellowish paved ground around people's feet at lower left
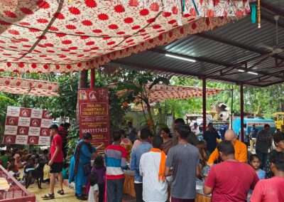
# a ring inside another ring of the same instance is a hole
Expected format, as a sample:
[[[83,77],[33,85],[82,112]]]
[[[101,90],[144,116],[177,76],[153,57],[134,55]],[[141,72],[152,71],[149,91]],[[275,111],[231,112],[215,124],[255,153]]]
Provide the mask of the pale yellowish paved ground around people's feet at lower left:
[[[36,200],[39,202],[46,201],[41,198],[41,196],[45,195],[49,191],[49,185],[48,184],[42,184],[43,189],[38,189],[37,184],[32,184],[31,186],[28,187],[28,191],[31,193],[35,194]],[[57,193],[58,191],[58,182],[55,184],[55,199],[53,200],[48,200],[50,202],[77,202],[77,198],[75,197],[75,190],[72,188],[69,188],[67,186],[64,186],[63,189],[65,191],[65,195],[61,196]],[[124,200],[127,202],[134,202],[136,201],[135,198],[125,195]]]

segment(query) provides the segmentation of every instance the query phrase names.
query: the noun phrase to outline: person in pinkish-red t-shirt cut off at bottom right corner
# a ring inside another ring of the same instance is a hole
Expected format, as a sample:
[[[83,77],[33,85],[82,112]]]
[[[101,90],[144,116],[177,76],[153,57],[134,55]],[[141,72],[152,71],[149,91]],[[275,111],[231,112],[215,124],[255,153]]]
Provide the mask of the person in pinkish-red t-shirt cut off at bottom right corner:
[[[280,143],[284,145],[283,143]],[[284,152],[278,151],[271,155],[271,179],[258,181],[253,190],[251,202],[283,202],[284,201]]]

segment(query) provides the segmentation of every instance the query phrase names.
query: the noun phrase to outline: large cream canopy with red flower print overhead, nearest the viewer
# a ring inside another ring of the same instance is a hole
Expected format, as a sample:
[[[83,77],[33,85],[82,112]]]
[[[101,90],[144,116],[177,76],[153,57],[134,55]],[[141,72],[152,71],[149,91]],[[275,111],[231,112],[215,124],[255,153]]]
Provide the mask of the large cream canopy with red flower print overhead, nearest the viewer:
[[[2,0],[0,70],[97,68],[249,12],[246,0]]]

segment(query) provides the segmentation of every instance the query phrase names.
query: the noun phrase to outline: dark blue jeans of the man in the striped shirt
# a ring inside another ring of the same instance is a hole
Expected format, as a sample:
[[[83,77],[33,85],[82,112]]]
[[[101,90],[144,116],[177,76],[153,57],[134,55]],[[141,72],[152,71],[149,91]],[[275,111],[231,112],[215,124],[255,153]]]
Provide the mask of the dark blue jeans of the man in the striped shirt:
[[[124,179],[107,179],[107,202],[121,202],[124,196]]]

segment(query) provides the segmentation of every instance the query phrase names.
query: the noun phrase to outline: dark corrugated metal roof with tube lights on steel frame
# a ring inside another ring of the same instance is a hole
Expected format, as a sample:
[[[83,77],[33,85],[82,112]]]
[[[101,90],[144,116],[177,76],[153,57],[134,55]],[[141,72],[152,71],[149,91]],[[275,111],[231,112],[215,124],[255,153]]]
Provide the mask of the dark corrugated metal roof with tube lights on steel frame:
[[[166,46],[113,60],[109,65],[195,78],[206,76],[210,80],[245,85],[266,86],[283,82],[284,52],[268,55],[270,50],[261,47],[275,46],[275,14],[280,15],[278,44],[284,47],[283,4],[283,0],[261,1],[261,28],[258,28],[257,23],[252,24],[251,16],[248,16],[207,33],[187,36]],[[197,62],[169,58],[165,53],[192,58]],[[241,73],[239,70],[246,72]]]

